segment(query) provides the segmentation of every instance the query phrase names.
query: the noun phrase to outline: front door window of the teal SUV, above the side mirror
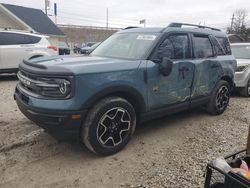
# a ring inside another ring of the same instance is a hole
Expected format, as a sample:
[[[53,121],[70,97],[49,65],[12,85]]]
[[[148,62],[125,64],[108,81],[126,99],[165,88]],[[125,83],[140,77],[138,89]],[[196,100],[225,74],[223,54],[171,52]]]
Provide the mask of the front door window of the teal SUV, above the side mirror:
[[[163,57],[169,59],[190,58],[188,35],[176,34],[168,36],[157,49],[157,59]]]

